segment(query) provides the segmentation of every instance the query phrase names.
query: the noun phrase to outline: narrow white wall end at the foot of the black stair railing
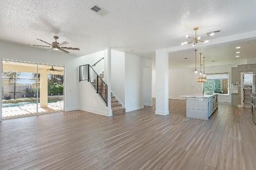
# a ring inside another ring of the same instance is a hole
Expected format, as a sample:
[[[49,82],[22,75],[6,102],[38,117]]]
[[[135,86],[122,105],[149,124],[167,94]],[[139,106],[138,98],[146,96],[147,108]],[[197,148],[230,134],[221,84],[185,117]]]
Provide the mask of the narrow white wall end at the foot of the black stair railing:
[[[108,111],[109,116],[112,116],[112,109],[111,109],[111,48],[108,48],[108,50],[104,53],[104,58],[106,56],[106,65],[107,65],[107,71],[104,72],[104,75],[106,75],[106,84],[108,84]]]

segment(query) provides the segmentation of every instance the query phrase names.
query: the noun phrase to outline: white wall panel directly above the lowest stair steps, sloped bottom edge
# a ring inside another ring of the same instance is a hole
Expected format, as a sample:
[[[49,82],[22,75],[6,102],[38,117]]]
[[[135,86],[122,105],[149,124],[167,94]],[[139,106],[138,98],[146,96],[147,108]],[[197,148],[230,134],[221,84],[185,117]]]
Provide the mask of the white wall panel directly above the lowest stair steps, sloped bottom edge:
[[[111,51],[111,91],[125,105],[125,53]]]

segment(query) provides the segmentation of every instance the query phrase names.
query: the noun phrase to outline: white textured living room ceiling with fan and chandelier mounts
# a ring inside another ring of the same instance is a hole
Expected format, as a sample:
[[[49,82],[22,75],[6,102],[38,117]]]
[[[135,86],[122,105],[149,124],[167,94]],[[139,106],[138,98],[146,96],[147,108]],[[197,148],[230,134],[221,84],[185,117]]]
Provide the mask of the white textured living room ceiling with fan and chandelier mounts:
[[[110,13],[90,10],[95,4]],[[21,44],[68,41],[82,56],[113,47],[142,57],[155,56],[155,49],[180,45],[199,27],[199,36],[221,30],[216,37],[256,28],[255,0],[195,1],[36,1],[5,0],[0,6],[0,39]]]

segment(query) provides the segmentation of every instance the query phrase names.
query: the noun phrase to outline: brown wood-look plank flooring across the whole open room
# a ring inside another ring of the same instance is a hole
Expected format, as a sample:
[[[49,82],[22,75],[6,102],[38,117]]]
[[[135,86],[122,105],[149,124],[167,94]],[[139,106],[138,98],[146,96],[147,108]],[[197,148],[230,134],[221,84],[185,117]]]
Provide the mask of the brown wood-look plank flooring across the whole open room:
[[[0,169],[256,169],[250,109],[219,105],[208,121],[155,107],[106,117],[84,111],[3,120]]]

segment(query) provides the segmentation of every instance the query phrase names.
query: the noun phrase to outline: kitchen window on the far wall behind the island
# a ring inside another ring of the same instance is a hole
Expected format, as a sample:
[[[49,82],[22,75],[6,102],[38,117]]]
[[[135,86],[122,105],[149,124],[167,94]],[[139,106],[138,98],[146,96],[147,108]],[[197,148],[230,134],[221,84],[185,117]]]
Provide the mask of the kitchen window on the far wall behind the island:
[[[206,75],[207,82],[204,82],[204,92],[214,92],[219,94],[228,94],[228,78],[229,75],[225,74],[211,74]]]

